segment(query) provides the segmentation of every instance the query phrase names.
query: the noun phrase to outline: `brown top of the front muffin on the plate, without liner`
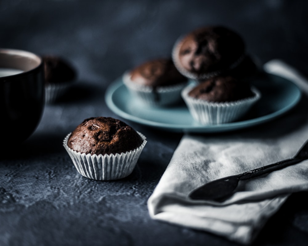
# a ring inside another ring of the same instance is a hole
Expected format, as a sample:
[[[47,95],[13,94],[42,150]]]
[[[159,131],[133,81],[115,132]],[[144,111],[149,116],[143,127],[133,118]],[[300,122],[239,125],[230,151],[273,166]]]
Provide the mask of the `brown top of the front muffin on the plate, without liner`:
[[[254,96],[248,83],[231,76],[217,76],[202,81],[188,95],[213,102],[237,101]]]

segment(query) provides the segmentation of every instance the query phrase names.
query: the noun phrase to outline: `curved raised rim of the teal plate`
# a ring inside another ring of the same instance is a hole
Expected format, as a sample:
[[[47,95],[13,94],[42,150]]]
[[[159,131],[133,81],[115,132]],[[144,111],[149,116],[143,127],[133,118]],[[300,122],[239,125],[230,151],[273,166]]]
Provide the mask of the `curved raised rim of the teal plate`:
[[[181,124],[168,124],[168,123],[150,121],[144,118],[134,116],[120,109],[117,105],[115,105],[114,101],[112,100],[112,95],[116,92],[116,90],[120,88],[121,86],[125,86],[122,81],[122,77],[117,78],[107,87],[106,92],[105,92],[105,102],[107,106],[109,107],[109,109],[111,109],[112,112],[119,115],[120,117],[123,117],[124,119],[130,120],[130,121],[142,124],[142,125],[147,125],[147,126],[151,126],[151,127],[155,127],[159,129],[169,130],[173,132],[183,132],[183,133],[186,133],[186,132],[188,133],[189,132],[190,133],[217,133],[217,132],[234,131],[237,129],[244,129],[244,128],[252,127],[254,125],[260,125],[265,122],[274,120],[275,118],[291,110],[300,101],[302,97],[302,91],[298,87],[298,85],[296,85],[289,78],[279,76],[277,74],[272,74],[272,73],[268,73],[268,74],[281,77],[287,80],[289,83],[292,83],[297,89],[296,98],[290,104],[283,107],[282,109],[274,111],[270,114],[266,114],[260,117],[256,117],[256,118],[252,118],[252,119],[248,119],[244,121],[229,122],[229,123],[211,125],[211,126],[202,126],[202,125],[187,126],[187,125],[181,125]]]

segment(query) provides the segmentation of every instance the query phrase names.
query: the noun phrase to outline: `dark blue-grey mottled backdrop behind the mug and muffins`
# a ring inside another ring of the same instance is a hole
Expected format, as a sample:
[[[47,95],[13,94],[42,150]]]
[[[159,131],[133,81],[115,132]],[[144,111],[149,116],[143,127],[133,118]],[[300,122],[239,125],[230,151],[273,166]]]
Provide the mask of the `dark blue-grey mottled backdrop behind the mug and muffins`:
[[[0,45],[60,54],[81,79],[112,81],[126,69],[169,56],[176,39],[222,24],[261,62],[283,59],[307,74],[307,1],[2,0]]]

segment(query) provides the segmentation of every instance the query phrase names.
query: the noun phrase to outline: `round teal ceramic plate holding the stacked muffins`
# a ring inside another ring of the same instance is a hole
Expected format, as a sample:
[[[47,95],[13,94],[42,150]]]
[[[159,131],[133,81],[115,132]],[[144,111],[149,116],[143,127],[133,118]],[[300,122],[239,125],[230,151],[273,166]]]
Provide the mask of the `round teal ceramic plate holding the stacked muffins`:
[[[170,107],[145,106],[131,97],[121,78],[107,88],[105,100],[107,106],[120,117],[143,125],[173,132],[215,133],[273,120],[292,109],[301,97],[300,89],[292,81],[277,75],[265,74],[253,84],[260,90],[261,99],[249,114],[239,121],[219,125],[201,125],[194,121],[184,102]]]

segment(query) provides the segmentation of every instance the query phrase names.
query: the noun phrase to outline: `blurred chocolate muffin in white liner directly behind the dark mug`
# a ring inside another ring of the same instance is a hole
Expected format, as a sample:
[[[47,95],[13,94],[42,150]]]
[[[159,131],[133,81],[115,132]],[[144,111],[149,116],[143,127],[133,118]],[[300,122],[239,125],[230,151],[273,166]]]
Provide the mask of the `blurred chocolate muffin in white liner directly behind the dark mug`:
[[[53,103],[76,80],[77,73],[73,66],[62,57],[44,55],[42,59],[45,73],[46,103]]]

